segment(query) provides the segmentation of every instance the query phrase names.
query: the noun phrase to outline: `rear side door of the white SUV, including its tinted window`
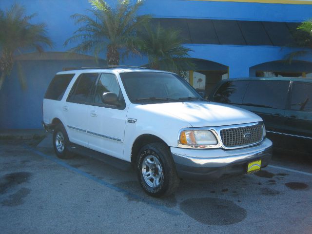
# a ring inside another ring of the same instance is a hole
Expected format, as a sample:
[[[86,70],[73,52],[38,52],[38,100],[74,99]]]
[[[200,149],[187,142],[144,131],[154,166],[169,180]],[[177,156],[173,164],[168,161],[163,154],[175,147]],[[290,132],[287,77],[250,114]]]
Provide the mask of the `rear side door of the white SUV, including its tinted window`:
[[[62,106],[68,137],[71,142],[82,146],[88,146],[88,105],[97,78],[98,73],[80,74]]]

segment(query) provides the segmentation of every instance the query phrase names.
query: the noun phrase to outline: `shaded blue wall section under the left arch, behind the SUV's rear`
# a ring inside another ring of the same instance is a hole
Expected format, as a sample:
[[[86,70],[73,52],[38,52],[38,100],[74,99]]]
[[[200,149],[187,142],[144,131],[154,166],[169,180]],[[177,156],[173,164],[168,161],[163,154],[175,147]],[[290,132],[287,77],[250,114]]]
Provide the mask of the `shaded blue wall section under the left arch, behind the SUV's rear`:
[[[67,67],[96,66],[94,60],[20,60],[27,80],[20,85],[15,67],[0,90],[0,129],[41,128],[42,101],[54,75]]]

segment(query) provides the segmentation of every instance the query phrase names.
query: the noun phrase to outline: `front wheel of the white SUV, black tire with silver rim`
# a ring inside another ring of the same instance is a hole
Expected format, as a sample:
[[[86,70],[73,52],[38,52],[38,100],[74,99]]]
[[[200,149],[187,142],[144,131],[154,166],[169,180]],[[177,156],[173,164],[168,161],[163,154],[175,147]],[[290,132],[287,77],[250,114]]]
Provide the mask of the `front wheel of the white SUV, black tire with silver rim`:
[[[169,149],[163,143],[145,145],[137,156],[137,176],[144,191],[151,196],[168,196],[180,179]]]

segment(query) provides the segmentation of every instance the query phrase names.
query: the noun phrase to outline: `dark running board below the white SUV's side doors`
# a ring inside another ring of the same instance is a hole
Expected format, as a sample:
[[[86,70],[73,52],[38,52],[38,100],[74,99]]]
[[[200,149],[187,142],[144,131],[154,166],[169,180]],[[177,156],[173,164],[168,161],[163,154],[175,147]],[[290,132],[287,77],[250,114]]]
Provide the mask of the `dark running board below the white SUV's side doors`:
[[[131,171],[132,170],[132,165],[130,162],[121,160],[119,158],[109,156],[103,153],[100,153],[95,150],[91,150],[89,148],[76,145],[76,144],[71,144],[70,147],[68,147],[68,150],[74,154],[82,155],[82,156],[88,156],[92,157],[95,159],[98,159],[99,161],[102,161],[104,163],[107,163],[117,169],[120,169],[122,171]]]

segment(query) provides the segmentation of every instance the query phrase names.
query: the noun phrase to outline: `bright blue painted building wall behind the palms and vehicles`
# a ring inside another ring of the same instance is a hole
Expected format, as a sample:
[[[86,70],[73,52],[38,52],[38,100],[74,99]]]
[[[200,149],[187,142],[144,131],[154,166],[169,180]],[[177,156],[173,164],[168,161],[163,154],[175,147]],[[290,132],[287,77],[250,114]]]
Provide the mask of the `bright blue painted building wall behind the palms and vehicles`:
[[[63,46],[78,28],[70,18],[75,13],[89,14],[88,0],[20,0],[28,14],[37,12],[33,22],[45,22],[54,48],[46,51],[65,52],[75,44]],[[114,4],[116,0],[109,0]],[[12,0],[0,0],[0,9],[11,6]],[[302,22],[312,18],[312,5],[266,4],[248,2],[218,2],[194,0],[145,0],[139,14],[152,14],[156,18],[190,18],[215,20],[255,20],[277,22]],[[296,48],[276,46],[187,44],[192,49],[191,57],[206,59],[229,67],[229,78],[254,76],[259,64],[278,61]],[[89,55],[92,55],[89,53]],[[105,59],[105,52],[101,55]],[[311,56],[299,60],[312,62]],[[127,65],[143,65],[146,58],[129,58]],[[89,60],[43,60],[23,61],[27,89],[21,90],[17,71],[14,69],[0,90],[0,128],[40,128],[41,103],[45,90],[53,75],[62,67],[94,65]],[[283,64],[281,67],[285,66]],[[258,68],[262,68],[260,65]],[[12,108],[14,107],[14,108]]]

